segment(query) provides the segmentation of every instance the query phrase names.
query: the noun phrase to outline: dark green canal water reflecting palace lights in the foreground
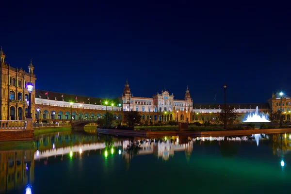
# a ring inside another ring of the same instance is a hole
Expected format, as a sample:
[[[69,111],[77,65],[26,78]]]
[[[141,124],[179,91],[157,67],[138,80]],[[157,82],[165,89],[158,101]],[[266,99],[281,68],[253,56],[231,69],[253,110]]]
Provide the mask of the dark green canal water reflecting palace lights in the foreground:
[[[0,143],[0,193],[290,193],[290,145],[290,133],[39,134],[34,141]]]

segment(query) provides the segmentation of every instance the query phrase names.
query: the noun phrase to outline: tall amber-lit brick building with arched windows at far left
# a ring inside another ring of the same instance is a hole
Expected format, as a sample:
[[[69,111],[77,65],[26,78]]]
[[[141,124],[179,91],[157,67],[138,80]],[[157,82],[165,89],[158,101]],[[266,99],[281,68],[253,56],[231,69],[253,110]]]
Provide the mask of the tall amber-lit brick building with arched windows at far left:
[[[33,74],[32,62],[28,66],[29,72],[7,65],[2,47],[0,49],[1,65],[1,120],[25,120],[27,113],[28,91],[26,83],[28,81],[35,85],[35,75]],[[33,88],[34,90],[34,88]],[[32,114],[34,113],[34,93],[32,92]]]

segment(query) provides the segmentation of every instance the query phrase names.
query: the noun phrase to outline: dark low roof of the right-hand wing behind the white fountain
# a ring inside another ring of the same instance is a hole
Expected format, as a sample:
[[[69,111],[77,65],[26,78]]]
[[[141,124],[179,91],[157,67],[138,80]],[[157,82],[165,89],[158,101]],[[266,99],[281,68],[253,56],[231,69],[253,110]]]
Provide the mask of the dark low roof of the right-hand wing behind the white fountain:
[[[220,106],[220,107],[219,107]],[[269,103],[242,103],[242,104],[226,104],[227,106],[233,106],[235,109],[256,109],[258,106],[259,109],[270,109]],[[193,104],[193,109],[222,109],[224,103],[222,104]]]

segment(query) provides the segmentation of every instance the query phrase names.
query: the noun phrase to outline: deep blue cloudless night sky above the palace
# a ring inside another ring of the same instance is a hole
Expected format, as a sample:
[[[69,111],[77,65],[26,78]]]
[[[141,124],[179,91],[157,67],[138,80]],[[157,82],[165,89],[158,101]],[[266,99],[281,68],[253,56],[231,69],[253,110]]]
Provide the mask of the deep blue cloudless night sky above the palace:
[[[64,94],[119,97],[128,78],[133,96],[182,99],[188,85],[194,103],[223,102],[224,83],[228,103],[291,95],[289,10],[146,2],[2,4],[0,45]]]

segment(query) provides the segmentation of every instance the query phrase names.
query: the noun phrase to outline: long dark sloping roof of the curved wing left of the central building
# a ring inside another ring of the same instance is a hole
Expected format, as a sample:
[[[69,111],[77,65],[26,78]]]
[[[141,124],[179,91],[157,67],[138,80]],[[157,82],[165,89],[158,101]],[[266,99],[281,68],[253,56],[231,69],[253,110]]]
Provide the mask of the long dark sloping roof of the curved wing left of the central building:
[[[122,103],[119,101],[118,98],[105,99],[105,98],[98,98],[98,97],[83,97],[83,96],[79,96],[79,95],[62,94],[62,93],[51,92],[51,91],[49,91],[48,95],[45,95],[47,92],[48,91],[36,89],[35,90],[35,97],[47,99],[47,96],[49,96],[49,99],[51,99],[51,100],[56,99],[58,101],[63,101],[62,95],[64,95],[64,101],[66,101],[66,102],[70,102],[70,101],[76,102],[76,97],[77,97],[78,103],[84,103],[84,104],[89,104],[88,98],[90,98],[90,104],[95,104],[95,103],[98,105],[100,105],[100,103],[105,104],[106,100],[108,101],[108,104],[111,104],[112,102],[114,103],[114,105],[117,105],[117,103]]]

